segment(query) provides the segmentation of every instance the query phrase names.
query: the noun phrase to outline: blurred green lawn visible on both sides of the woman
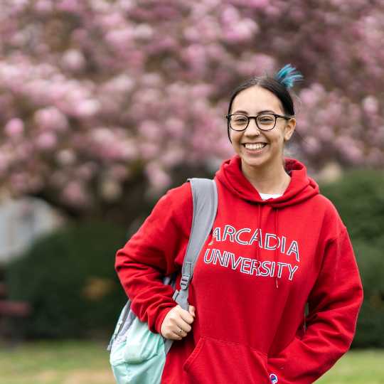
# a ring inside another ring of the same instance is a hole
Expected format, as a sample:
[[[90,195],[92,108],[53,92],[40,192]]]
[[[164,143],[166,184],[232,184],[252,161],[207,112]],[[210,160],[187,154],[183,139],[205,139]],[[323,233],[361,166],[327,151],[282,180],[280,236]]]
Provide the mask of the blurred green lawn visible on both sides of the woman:
[[[105,346],[92,341],[1,345],[0,383],[114,384]],[[351,351],[316,383],[381,384],[383,361],[384,350]]]

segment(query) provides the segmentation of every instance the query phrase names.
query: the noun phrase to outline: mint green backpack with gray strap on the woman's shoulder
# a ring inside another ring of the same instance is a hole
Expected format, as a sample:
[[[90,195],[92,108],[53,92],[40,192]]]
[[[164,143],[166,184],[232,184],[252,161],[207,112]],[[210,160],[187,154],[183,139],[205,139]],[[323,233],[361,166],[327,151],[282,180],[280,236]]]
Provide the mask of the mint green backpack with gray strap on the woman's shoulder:
[[[191,235],[181,270],[180,290],[173,299],[188,311],[188,285],[201,249],[213,226],[218,206],[216,183],[208,178],[188,178],[193,197]],[[164,284],[175,289],[176,273],[166,276]],[[131,310],[128,300],[122,309],[114,333],[107,347],[110,364],[117,384],[160,384],[166,353],[173,340],[149,331]]]

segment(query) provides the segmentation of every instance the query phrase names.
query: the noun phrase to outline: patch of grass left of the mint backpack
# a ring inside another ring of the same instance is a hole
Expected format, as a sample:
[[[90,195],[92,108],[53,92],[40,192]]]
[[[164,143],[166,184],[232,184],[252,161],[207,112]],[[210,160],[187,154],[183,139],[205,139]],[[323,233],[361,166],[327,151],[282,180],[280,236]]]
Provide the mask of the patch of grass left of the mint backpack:
[[[23,343],[0,348],[1,384],[113,384],[107,342]]]

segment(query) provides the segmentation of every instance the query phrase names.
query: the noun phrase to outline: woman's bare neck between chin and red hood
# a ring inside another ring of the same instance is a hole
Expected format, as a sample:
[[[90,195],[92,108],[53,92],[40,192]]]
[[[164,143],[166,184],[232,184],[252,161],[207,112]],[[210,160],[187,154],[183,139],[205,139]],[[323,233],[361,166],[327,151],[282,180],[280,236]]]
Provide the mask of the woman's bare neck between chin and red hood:
[[[262,168],[248,166],[241,161],[241,169],[245,178],[260,193],[282,194],[291,181],[281,161],[279,164],[270,164]]]

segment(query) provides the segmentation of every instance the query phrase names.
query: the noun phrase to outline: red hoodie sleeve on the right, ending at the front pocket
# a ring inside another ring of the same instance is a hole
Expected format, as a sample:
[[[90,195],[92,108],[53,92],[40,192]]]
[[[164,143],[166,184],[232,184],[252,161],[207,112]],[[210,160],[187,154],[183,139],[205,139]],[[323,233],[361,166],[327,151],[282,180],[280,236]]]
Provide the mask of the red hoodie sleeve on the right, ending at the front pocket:
[[[274,360],[269,371],[279,384],[314,383],[348,351],[356,331],[363,289],[345,226],[326,244],[324,258],[309,295],[306,332]]]

